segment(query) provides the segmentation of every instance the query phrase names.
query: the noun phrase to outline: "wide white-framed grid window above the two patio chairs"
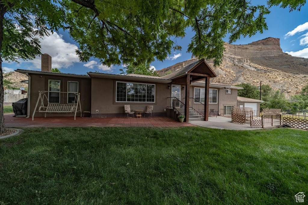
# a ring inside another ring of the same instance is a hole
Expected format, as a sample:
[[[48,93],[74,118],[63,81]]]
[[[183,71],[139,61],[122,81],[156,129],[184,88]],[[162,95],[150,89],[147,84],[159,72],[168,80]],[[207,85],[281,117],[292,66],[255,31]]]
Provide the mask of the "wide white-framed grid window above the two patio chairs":
[[[116,82],[116,102],[155,102],[155,85]]]

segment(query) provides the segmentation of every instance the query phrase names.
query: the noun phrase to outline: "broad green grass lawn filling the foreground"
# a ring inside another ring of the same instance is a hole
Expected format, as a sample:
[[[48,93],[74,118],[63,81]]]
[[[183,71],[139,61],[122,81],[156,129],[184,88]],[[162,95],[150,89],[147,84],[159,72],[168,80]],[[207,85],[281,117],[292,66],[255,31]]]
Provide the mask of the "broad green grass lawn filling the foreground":
[[[24,130],[0,140],[0,204],[291,204],[298,192],[307,196],[307,131]]]

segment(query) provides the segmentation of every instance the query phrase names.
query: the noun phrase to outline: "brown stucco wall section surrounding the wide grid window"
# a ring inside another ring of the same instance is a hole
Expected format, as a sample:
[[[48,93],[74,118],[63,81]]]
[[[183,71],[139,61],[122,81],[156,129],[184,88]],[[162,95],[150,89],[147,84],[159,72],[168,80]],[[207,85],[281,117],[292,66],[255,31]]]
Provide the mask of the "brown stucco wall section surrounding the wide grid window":
[[[92,117],[123,117],[124,105],[130,105],[131,110],[146,110],[147,105],[153,105],[153,116],[165,116],[167,98],[171,96],[171,89],[165,83],[155,84],[155,102],[116,102],[116,82],[120,80],[108,78],[91,78],[91,116]],[[120,81],[124,82],[124,81]],[[127,81],[145,83],[137,81]],[[98,110],[98,112],[95,112]],[[142,115],[143,116],[143,115]]]

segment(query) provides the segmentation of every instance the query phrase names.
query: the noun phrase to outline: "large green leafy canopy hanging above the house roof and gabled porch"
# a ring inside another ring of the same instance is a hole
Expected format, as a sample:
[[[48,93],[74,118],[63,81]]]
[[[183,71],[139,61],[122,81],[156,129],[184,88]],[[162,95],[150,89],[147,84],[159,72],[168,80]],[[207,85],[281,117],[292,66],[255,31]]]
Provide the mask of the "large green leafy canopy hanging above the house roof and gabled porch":
[[[188,52],[221,62],[223,38],[229,43],[241,36],[267,30],[265,15],[271,6],[300,10],[306,0],[268,0],[253,5],[250,0],[64,0],[67,24],[79,44],[82,61],[99,58],[105,65],[141,64],[164,60],[172,50],[181,50],[175,38],[186,29],[195,35]]]

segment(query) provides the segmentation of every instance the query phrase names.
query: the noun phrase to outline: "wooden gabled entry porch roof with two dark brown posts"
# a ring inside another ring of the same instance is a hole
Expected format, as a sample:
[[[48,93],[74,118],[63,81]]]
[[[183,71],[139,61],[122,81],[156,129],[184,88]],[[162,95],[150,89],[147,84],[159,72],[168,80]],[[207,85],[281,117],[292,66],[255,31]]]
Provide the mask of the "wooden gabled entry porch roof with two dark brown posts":
[[[204,103],[204,121],[209,120],[209,83],[210,78],[216,77],[216,74],[204,59],[192,63],[182,68],[182,72],[172,79],[172,84],[185,85],[185,122],[189,121],[189,87],[192,82],[205,80],[205,103]]]

